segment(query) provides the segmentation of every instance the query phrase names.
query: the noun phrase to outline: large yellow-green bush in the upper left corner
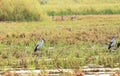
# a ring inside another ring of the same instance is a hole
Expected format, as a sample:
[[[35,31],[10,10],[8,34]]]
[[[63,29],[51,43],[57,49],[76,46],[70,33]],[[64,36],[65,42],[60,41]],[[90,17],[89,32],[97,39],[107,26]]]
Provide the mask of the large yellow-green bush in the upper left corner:
[[[38,0],[0,0],[0,21],[40,21],[46,17]]]

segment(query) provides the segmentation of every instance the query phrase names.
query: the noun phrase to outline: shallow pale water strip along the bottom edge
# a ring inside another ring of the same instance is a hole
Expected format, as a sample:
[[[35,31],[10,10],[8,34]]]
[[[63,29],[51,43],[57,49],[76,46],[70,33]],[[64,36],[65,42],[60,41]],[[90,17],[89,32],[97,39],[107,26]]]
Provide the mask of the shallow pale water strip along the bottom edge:
[[[82,71],[85,73],[84,76],[111,76],[111,74],[115,74],[115,71],[120,71],[120,68],[87,68],[87,69],[82,69]],[[42,72],[46,72],[47,76],[60,76],[62,72],[74,74],[75,70],[74,69],[50,69],[50,70],[19,69],[19,70],[9,70],[9,72],[23,76],[28,76],[27,74],[32,74],[32,73],[38,76],[38,74]],[[81,71],[78,70],[78,72]]]

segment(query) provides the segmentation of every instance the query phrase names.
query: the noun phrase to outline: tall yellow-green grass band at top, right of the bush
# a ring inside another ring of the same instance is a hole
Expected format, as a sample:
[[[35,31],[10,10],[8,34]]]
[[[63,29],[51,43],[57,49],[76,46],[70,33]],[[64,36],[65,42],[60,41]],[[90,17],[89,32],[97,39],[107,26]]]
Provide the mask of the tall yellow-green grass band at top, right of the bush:
[[[120,14],[118,0],[52,0],[42,5],[44,11],[50,15],[96,15]]]

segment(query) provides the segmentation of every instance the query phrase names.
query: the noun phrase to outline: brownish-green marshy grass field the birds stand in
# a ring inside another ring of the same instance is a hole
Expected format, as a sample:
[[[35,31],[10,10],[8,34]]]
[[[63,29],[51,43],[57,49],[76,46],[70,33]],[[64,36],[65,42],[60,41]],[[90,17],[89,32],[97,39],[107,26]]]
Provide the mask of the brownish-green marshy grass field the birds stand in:
[[[117,41],[120,39],[119,15],[83,16],[74,21],[1,22],[0,28],[2,69],[6,66],[74,69],[87,64],[120,67],[120,49],[107,50],[113,35]],[[46,43],[41,52],[33,55],[40,37],[44,37]],[[46,61],[46,58],[54,60]]]

